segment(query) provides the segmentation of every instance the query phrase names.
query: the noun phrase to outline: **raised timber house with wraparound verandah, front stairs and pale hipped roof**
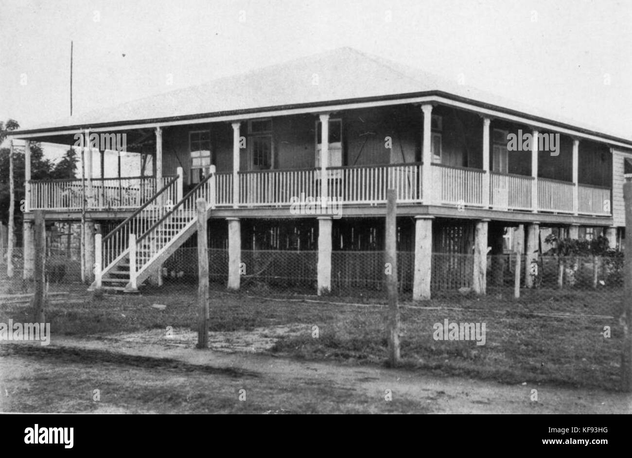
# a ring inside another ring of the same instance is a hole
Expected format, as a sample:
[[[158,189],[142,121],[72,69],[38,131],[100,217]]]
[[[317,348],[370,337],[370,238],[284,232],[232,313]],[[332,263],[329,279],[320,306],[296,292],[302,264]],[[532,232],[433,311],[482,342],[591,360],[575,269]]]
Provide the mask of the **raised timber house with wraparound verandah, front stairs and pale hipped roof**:
[[[83,181],[32,181],[27,165],[25,250],[33,210],[46,210],[47,221],[83,220],[92,286],[137,291],[161,283],[161,265],[195,233],[204,197],[211,246],[228,250],[229,289],[240,288],[247,246],[317,253],[310,259],[324,294],[332,253],[383,250],[394,188],[413,299],[430,298],[432,253],[473,256],[471,284],[485,294],[488,247],[506,250],[513,227],[524,225],[533,256],[544,230],[603,234],[612,247],[623,236],[632,141],[543,112],[342,48],[15,131],[27,164],[28,142],[73,145],[92,133],[125,133],[127,154],[152,162],[143,176],[94,176],[104,151],[88,145]],[[509,150],[507,136],[519,130],[559,134],[557,154],[538,141]],[[342,218],[291,213],[301,195],[335,199]],[[261,233],[270,228],[276,238]]]

